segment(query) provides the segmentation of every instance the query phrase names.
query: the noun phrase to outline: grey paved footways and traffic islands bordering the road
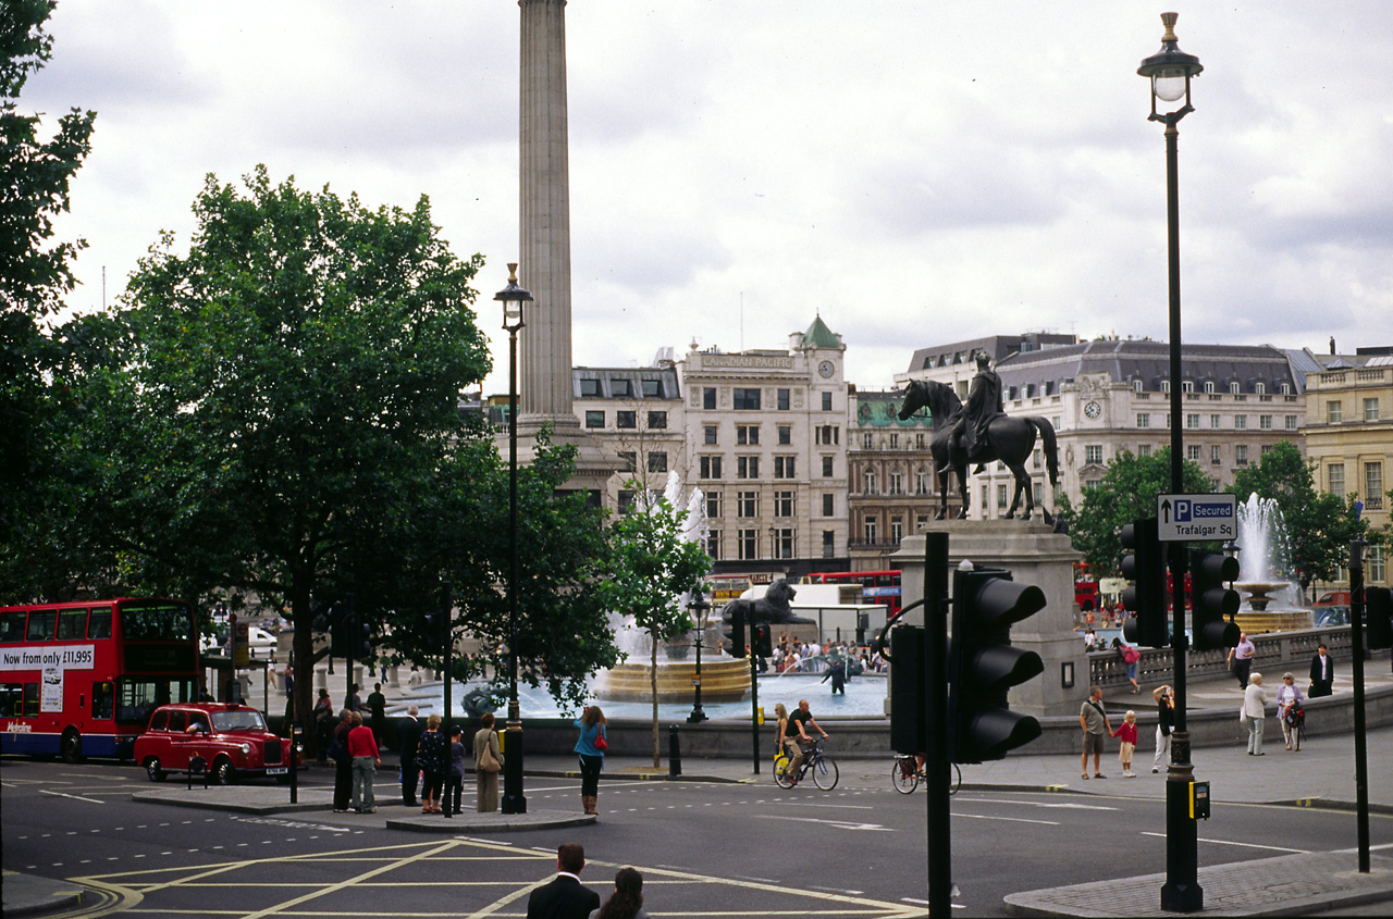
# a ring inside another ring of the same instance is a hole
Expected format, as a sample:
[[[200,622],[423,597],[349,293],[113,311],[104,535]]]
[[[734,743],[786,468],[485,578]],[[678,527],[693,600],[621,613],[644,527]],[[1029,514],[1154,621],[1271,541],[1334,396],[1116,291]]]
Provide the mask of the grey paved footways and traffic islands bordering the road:
[[[1231,682],[1231,681],[1226,681]],[[1194,685],[1194,684],[1192,684]],[[1204,692],[1204,686],[1197,686]],[[1220,686],[1211,686],[1220,692]],[[407,693],[401,693],[405,696]],[[1149,702],[1149,693],[1142,696]],[[1107,707],[1116,712],[1128,705],[1138,712],[1146,706],[1138,696],[1126,692],[1109,698]],[[393,707],[398,707],[398,698]],[[1236,738],[1237,732],[1236,718]],[[836,723],[823,723],[832,734],[827,746],[836,756]],[[744,725],[740,730],[745,730]],[[1138,756],[1134,762],[1135,778],[1124,778],[1117,762],[1116,746],[1105,755],[1102,771],[1106,778],[1082,778],[1077,755],[1011,755],[996,763],[967,764],[961,767],[963,788],[967,791],[1034,791],[1055,794],[1094,794],[1165,801],[1166,766],[1152,771],[1151,737],[1142,737]],[[1248,756],[1243,742],[1236,739],[1231,746],[1195,748],[1191,753],[1194,778],[1211,783],[1211,802],[1215,813],[1224,805],[1277,803],[1304,808],[1326,808],[1355,810],[1358,791],[1354,773],[1354,737],[1350,734],[1307,738],[1300,751],[1286,751],[1283,744],[1269,744],[1265,756]],[[390,776],[391,769],[384,757],[380,774]],[[1379,728],[1368,732],[1367,744],[1368,784],[1365,799],[1371,813],[1393,815],[1393,728]],[[651,757],[607,756],[605,778],[628,781],[705,781],[705,783],[772,783],[769,764],[761,764],[756,774],[749,759],[684,759],[680,776],[666,757],[663,766],[655,769]],[[848,784],[876,784],[890,781],[890,755],[885,759],[841,759],[841,778]],[[284,785],[223,785],[188,787],[171,778],[164,784],[152,784],[135,792],[141,802],[201,808],[210,810],[235,810],[242,813],[323,813],[332,809],[332,788],[323,783],[332,776],[332,767],[312,764],[302,774],[312,776],[311,784],[298,788],[295,803],[290,802],[290,788]],[[1091,774],[1091,771],[1089,771]],[[579,783],[579,770],[571,756],[529,755],[527,776],[574,778]],[[468,778],[465,784],[471,784]],[[443,817],[422,815],[415,808],[407,809],[400,796],[390,794],[396,783],[382,781],[383,794],[378,798],[378,812],[371,815],[340,813],[336,820],[344,820],[364,828],[393,828],[417,833],[468,833],[488,835],[490,833],[511,833],[543,827],[582,826],[593,823],[595,816],[575,812],[535,810],[525,815],[474,813]],[[600,785],[603,795],[603,780]],[[467,796],[469,796],[467,794]],[[1353,815],[1351,815],[1353,819]],[[1360,873],[1355,852],[1283,855],[1248,862],[1202,866],[1199,886],[1204,890],[1205,908],[1198,915],[1241,915],[1280,916],[1309,915],[1329,909],[1351,908],[1365,904],[1386,904],[1393,912],[1393,859],[1382,855],[1371,856],[1371,870]],[[1160,912],[1159,890],[1165,874],[1113,879],[1106,881],[1055,887],[1011,894],[1006,898],[1006,909],[1022,916],[1141,916]],[[4,874],[6,918],[20,915],[42,915],[74,905],[91,905],[93,894],[84,894],[72,884],[7,872]],[[1376,915],[1378,909],[1373,913]]]

